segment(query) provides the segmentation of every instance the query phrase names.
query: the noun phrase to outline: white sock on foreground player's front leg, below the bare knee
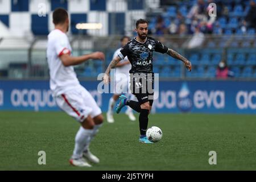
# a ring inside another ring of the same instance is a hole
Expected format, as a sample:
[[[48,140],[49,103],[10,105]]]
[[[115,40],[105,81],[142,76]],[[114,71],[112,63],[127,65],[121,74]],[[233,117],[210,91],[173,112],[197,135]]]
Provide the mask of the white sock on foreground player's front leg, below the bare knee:
[[[80,127],[76,134],[75,149],[73,151],[72,159],[79,159],[82,157],[82,151],[84,151],[86,145],[89,145],[92,133],[93,130],[84,129],[82,126]]]

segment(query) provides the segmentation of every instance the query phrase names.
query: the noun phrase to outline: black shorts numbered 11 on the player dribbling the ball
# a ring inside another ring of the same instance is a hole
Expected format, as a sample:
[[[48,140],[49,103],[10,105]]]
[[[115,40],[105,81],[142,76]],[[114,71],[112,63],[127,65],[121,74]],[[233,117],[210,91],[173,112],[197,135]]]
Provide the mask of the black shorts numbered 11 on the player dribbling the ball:
[[[154,98],[154,77],[147,78],[134,78],[131,77],[130,90],[137,97],[140,104],[150,102],[153,105]]]

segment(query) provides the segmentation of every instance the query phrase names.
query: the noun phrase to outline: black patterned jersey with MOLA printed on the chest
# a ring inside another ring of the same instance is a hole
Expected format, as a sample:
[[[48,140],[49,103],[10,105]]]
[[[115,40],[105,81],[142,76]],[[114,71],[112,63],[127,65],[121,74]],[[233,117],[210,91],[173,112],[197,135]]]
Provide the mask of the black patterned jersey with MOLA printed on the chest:
[[[130,73],[152,73],[153,51],[167,53],[168,48],[159,41],[147,37],[144,43],[138,42],[136,38],[127,43],[120,51],[119,57],[128,57],[131,63]]]

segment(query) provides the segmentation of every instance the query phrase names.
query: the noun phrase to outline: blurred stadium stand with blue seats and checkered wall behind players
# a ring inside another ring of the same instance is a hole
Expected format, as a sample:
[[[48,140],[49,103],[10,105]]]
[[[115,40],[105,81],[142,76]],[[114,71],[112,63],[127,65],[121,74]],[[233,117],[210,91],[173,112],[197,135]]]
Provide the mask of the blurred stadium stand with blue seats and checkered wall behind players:
[[[45,6],[38,6],[39,2],[44,3]],[[69,2],[0,1],[0,23],[5,26],[5,32],[9,30],[0,40],[0,76],[20,77],[15,75],[15,71],[9,71],[20,68],[23,77],[48,77],[46,36],[53,29],[52,10],[56,7],[64,7],[71,15],[69,38],[73,54],[88,53],[93,51],[94,47],[106,53],[105,63],[95,61],[76,67],[80,77],[96,77],[101,73],[112,60],[113,52],[119,46],[119,37],[124,34],[133,36],[135,20],[147,18],[150,22],[148,25],[150,36],[159,38],[166,46],[188,57],[193,64],[193,71],[186,74],[183,65],[177,64],[177,60],[155,53],[154,71],[160,73],[160,77],[214,78],[218,63],[224,60],[235,73],[236,78],[256,78],[255,27],[251,27],[251,24],[249,26],[249,19],[246,18],[251,9],[255,8],[255,3],[253,5],[255,1],[72,0],[72,3]],[[209,2],[217,5],[216,18],[208,17]],[[45,12],[43,7],[46,7]],[[77,30],[77,23],[86,22],[101,23],[102,29]],[[162,23],[163,31],[156,30],[156,24],[159,22]],[[203,32],[204,40],[201,46],[189,49],[187,45],[196,28],[200,28],[200,32]],[[19,31],[14,31],[17,29]],[[1,30],[3,28],[1,29],[0,26]],[[7,34],[11,35],[11,38],[8,38]],[[15,54],[10,56],[10,50],[13,49],[16,50]],[[26,64],[26,67],[23,67],[23,64]]]

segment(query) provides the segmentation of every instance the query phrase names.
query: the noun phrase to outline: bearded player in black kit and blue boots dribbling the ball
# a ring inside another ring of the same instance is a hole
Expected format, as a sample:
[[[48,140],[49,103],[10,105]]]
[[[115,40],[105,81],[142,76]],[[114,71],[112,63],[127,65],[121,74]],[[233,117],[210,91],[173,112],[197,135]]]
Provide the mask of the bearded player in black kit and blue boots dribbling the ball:
[[[125,96],[119,97],[119,103],[115,108],[115,111],[119,113],[124,106],[130,106],[139,114],[139,129],[141,136],[139,142],[152,143],[146,137],[148,114],[152,108],[153,95],[151,92],[154,85],[154,73],[153,69],[153,51],[160,53],[167,53],[168,55],[183,61],[188,71],[191,71],[191,62],[185,59],[176,51],[164,46],[159,41],[147,36],[148,22],[144,19],[139,19],[136,22],[137,37],[128,42],[125,47],[121,49],[121,53],[115,57],[109,64],[105,71],[104,82],[107,84],[110,80],[110,69],[122,60],[125,56],[128,57],[131,63],[130,70],[130,89],[131,92],[137,97],[137,101],[128,100]],[[137,73],[137,74],[136,74]]]

